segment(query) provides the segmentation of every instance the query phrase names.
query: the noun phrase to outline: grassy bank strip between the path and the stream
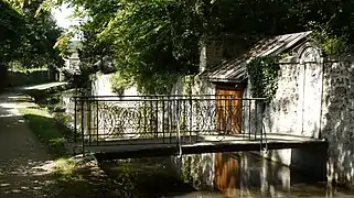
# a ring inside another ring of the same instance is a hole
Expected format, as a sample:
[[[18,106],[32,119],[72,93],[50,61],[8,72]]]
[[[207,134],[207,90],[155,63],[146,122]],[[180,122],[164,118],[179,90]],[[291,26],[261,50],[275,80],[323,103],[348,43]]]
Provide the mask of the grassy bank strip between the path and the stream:
[[[50,198],[124,197],[115,183],[93,163],[79,156],[71,156],[65,150],[65,135],[60,118],[53,118],[45,108],[31,105],[19,109],[31,131],[46,145],[54,160],[53,170],[45,177],[51,183],[43,188]]]

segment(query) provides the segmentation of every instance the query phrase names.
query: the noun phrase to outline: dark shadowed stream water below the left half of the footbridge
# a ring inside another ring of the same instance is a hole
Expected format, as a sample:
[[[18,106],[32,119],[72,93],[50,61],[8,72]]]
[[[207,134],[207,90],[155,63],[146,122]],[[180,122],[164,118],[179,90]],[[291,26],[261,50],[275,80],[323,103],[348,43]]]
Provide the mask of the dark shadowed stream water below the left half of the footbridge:
[[[129,198],[224,198],[212,189],[199,191],[182,182],[169,157],[147,157],[101,162],[100,167],[124,189]]]

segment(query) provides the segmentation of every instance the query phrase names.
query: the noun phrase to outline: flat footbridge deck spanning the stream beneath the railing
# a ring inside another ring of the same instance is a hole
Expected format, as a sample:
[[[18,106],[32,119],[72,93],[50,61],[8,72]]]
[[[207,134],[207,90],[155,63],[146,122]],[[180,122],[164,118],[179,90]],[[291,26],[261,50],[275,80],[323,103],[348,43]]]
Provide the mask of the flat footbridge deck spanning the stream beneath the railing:
[[[255,136],[253,136],[255,138]],[[238,135],[194,135],[181,138],[183,154],[260,151],[298,148],[314,144],[326,144],[317,140],[290,134],[267,134],[267,141],[261,136],[249,140],[249,136]],[[133,158],[144,156],[169,156],[179,153],[178,139],[135,139],[98,142],[98,144],[84,145],[85,152],[95,153],[104,158]]]

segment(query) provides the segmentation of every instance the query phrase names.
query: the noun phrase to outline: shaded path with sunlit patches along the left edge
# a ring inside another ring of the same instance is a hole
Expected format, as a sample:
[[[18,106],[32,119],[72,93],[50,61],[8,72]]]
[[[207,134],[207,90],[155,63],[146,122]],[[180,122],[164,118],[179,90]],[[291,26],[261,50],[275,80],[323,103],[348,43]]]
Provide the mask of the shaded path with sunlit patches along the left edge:
[[[0,95],[0,197],[45,197],[41,195],[52,161],[19,114],[28,98]]]

